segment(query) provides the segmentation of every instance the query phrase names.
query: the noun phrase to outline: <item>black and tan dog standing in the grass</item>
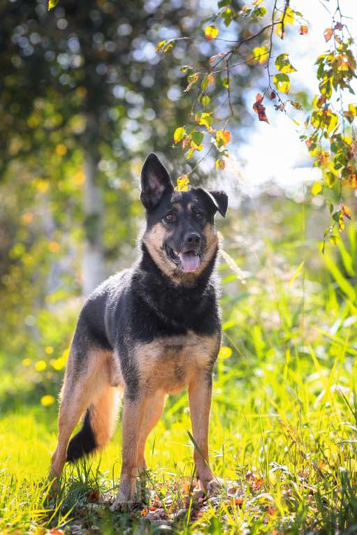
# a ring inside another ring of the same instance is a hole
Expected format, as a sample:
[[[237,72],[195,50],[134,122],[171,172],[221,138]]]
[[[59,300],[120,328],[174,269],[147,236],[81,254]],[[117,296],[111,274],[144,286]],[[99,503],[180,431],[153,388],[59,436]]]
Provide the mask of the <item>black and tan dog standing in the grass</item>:
[[[52,476],[110,439],[124,389],[119,504],[137,501],[145,471],[145,441],[167,394],[189,391],[196,474],[214,486],[208,464],[212,367],[221,339],[213,270],[218,251],[214,214],[227,196],[201,188],[174,191],[166,169],[150,154],[141,173],[147,227],[140,258],[97,288],[85,303],[61,391],[59,437]],[[85,414],[81,430],[68,444]],[[67,448],[68,446],[68,448]]]

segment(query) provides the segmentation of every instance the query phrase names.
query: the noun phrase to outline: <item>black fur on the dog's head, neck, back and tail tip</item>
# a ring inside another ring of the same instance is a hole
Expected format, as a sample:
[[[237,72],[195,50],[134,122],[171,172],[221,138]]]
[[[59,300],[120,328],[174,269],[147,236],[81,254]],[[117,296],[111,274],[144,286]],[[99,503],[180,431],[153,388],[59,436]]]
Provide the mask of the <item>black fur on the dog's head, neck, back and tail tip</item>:
[[[201,188],[174,192],[166,169],[154,154],[145,161],[141,186],[147,229],[162,222],[169,230],[168,245],[175,251],[184,250],[187,235],[195,233],[200,242],[194,247],[197,252],[204,252],[203,230],[207,224],[214,224],[217,211],[226,214],[226,193],[207,192]],[[178,205],[180,209],[175,208]],[[174,210],[175,220],[166,221],[166,214]],[[196,217],[197,212],[202,217]],[[110,277],[89,296],[78,319],[74,349],[85,343],[115,351],[126,383],[126,395],[135,399],[140,387],[138,366],[133,355],[136,343],[149,343],[163,336],[188,335],[189,331],[197,335],[220,332],[217,283],[213,275],[216,257],[217,250],[191,284],[177,284],[161,271],[142,242],[140,258],[135,265]],[[80,368],[86,365],[86,353],[77,353],[76,365]],[[212,381],[216,356],[207,371],[207,381]],[[181,373],[177,369],[178,377]],[[67,460],[77,459],[95,447],[90,413],[87,411],[82,430],[68,446]]]

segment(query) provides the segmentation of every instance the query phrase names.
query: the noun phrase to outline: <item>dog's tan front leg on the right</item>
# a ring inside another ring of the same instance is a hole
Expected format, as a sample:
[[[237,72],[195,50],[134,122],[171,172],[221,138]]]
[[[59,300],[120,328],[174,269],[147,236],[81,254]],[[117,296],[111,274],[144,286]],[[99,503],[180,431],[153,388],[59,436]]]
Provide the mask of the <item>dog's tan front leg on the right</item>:
[[[208,457],[208,432],[212,401],[212,377],[206,373],[195,377],[189,384],[189,409],[191,413],[192,432],[198,448],[194,448],[196,475],[201,488],[211,492],[219,483],[210,469]]]

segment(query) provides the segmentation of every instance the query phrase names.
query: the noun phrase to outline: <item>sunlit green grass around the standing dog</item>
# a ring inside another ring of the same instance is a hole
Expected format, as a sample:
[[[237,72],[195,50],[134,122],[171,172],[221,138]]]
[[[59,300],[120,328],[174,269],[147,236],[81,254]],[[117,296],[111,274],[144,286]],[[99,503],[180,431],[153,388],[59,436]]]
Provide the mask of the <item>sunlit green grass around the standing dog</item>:
[[[210,455],[223,481],[219,494],[205,500],[191,492],[183,393],[168,400],[148,440],[145,496],[152,511],[143,505],[110,513],[119,430],[100,458],[67,467],[61,493],[46,501],[56,407],[41,406],[38,378],[27,381],[28,369],[3,358],[0,532],[357,532],[356,231],[337,258],[319,257],[317,268],[316,244],[301,247],[289,236],[274,250],[263,244],[254,265],[237,254],[236,232],[233,225],[227,250],[254,276],[243,286],[221,267],[224,346],[233,352],[219,360],[214,380]],[[6,397],[10,376],[17,381]]]

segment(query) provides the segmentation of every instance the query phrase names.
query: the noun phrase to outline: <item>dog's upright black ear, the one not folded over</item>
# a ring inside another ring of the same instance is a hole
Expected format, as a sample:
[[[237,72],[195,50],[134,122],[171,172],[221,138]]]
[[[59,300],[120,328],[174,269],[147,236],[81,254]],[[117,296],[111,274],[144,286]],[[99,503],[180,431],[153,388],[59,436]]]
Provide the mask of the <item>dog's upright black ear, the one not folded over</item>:
[[[145,208],[155,207],[164,193],[173,192],[168,172],[153,152],[147,156],[141,170],[140,200]]]

